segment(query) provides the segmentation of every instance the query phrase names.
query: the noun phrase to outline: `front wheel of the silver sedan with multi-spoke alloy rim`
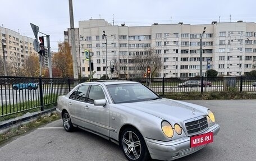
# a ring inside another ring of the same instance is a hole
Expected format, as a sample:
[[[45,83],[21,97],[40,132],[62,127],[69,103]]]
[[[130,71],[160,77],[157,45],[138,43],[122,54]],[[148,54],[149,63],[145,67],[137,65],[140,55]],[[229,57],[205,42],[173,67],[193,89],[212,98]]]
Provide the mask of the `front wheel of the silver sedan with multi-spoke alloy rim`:
[[[145,161],[150,159],[145,140],[135,128],[129,127],[122,131],[120,146],[125,157],[130,161]]]

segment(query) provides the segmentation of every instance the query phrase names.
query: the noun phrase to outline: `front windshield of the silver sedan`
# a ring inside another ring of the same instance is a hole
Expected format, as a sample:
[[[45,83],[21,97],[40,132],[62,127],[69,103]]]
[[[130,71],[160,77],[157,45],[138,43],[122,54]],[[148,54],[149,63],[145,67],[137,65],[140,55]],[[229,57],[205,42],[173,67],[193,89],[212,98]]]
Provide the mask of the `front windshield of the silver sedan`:
[[[114,103],[132,103],[160,98],[141,84],[113,84],[107,85],[107,89]]]

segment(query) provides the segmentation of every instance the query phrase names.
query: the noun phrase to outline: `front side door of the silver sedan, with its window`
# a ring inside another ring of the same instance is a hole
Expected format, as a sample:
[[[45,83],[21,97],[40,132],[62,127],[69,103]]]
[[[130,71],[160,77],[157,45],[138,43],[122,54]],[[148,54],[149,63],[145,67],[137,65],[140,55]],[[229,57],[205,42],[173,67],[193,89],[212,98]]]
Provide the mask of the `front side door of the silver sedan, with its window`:
[[[94,105],[94,100],[107,99],[106,94],[102,86],[92,85],[90,86],[88,94],[88,102],[86,103],[86,111],[84,111],[83,117],[86,123],[89,123],[89,129],[109,136],[109,106],[106,105]],[[89,116],[87,115],[89,113]],[[88,127],[87,127],[88,128]]]

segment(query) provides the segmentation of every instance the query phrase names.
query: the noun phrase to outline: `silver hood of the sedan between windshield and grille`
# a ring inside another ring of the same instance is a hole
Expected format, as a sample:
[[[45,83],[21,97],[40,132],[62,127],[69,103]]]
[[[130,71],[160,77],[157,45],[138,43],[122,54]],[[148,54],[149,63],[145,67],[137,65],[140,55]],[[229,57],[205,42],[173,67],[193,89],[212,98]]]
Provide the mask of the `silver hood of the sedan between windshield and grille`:
[[[191,118],[203,116],[207,114],[208,110],[200,105],[164,98],[120,105],[175,122],[183,122]]]

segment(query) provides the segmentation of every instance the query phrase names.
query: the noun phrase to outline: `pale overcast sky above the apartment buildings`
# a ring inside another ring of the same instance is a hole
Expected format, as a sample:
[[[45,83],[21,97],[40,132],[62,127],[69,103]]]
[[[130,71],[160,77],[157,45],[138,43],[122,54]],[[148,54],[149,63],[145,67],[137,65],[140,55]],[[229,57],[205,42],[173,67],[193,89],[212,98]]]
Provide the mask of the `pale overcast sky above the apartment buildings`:
[[[78,21],[105,19],[115,25],[211,24],[212,21],[256,21],[255,0],[73,0],[75,27]],[[0,25],[34,38],[30,23],[50,35],[57,52],[63,31],[70,27],[68,0],[0,0]],[[39,36],[41,36],[39,34]]]

